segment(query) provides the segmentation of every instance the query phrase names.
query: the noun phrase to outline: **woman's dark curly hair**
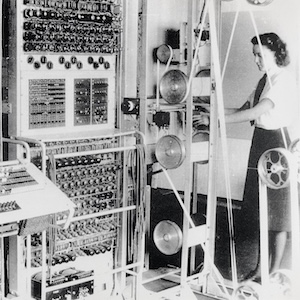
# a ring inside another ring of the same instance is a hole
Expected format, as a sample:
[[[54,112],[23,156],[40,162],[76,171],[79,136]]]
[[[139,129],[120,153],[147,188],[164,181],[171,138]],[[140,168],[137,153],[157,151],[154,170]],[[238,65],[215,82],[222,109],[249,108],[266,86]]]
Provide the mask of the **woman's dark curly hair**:
[[[265,33],[259,35],[260,42],[263,46],[274,52],[276,64],[280,67],[287,66],[290,63],[289,54],[286,44],[280,39],[276,33]],[[251,40],[253,45],[258,45],[257,36]]]

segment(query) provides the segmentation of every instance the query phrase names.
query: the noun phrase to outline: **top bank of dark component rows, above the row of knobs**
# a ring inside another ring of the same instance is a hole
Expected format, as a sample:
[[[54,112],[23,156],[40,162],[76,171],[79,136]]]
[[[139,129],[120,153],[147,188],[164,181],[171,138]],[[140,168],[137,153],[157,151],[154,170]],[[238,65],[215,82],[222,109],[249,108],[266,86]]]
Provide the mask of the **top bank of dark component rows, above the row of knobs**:
[[[116,53],[120,4],[104,1],[23,1],[24,52]]]

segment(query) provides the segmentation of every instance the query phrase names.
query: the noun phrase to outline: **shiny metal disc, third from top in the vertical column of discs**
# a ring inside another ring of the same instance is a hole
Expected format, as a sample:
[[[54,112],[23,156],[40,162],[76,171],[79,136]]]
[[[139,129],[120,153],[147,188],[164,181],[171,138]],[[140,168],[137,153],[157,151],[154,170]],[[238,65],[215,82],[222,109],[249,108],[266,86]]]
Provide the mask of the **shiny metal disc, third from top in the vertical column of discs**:
[[[185,158],[185,147],[176,135],[166,135],[158,140],[155,155],[164,168],[175,169]]]

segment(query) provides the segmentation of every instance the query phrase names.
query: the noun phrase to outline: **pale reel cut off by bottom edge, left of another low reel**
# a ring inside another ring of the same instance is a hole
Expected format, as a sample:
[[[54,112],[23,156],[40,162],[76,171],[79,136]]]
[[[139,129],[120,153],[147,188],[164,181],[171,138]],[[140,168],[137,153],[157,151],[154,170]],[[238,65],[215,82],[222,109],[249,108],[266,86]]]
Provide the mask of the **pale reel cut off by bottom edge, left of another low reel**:
[[[232,294],[233,300],[262,300],[262,286],[253,281],[240,284]]]

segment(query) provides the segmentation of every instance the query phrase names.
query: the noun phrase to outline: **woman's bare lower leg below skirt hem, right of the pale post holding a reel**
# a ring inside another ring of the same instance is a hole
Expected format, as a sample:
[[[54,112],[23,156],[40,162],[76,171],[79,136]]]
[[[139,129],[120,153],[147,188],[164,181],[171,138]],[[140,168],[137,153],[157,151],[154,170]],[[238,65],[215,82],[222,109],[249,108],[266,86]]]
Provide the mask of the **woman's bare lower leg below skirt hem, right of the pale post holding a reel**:
[[[286,231],[271,231],[271,240],[270,240],[270,256],[271,256],[271,265],[270,265],[270,274],[280,268],[280,264],[283,258],[285,245],[287,241],[287,232]]]

